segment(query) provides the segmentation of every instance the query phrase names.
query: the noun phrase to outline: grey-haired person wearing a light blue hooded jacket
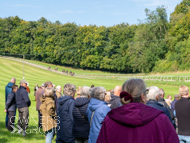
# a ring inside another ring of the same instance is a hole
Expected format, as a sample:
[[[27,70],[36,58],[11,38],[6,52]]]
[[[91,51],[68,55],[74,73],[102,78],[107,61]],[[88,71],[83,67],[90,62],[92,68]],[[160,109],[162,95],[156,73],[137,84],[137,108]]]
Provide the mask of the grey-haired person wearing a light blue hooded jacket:
[[[106,89],[94,87],[90,93],[91,99],[87,108],[87,117],[90,125],[89,143],[96,143],[102,122],[111,108],[105,102]]]

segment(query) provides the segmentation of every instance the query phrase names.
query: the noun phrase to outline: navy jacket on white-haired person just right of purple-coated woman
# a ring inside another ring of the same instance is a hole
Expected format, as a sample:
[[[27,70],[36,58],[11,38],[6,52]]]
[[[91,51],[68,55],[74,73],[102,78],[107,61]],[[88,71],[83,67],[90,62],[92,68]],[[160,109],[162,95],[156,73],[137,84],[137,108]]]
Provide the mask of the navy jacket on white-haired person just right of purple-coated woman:
[[[168,116],[168,118],[170,119],[170,121],[172,122],[172,119],[171,119],[171,116],[170,116],[170,113],[169,113],[168,109],[165,108],[165,107],[163,107],[162,104],[158,103],[155,100],[149,100],[149,101],[147,101],[146,105],[163,111]]]

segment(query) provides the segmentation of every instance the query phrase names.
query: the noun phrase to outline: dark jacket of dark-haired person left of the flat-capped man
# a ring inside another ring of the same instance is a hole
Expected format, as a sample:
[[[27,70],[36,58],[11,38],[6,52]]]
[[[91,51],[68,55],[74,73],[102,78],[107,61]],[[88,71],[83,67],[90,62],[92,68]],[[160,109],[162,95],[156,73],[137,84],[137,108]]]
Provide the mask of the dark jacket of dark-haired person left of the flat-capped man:
[[[15,93],[11,91],[7,97],[7,102],[6,102],[6,108],[7,111],[16,111],[16,99],[15,99]]]

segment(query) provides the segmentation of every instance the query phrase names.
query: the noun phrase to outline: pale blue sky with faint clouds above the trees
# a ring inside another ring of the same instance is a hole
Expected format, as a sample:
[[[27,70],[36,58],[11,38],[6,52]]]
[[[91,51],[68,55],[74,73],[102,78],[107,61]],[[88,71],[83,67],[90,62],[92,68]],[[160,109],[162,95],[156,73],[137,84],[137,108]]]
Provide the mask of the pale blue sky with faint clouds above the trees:
[[[113,26],[138,24],[145,19],[145,8],[155,10],[164,5],[168,17],[182,0],[1,0],[0,17],[18,16],[26,21],[45,17],[51,22],[77,25]]]

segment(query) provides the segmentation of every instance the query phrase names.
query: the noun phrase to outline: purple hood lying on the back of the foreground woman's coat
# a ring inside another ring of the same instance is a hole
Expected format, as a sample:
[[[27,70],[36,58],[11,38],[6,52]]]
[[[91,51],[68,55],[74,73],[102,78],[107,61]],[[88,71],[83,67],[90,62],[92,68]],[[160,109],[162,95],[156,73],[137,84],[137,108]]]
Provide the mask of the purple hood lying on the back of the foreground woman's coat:
[[[141,103],[129,103],[113,109],[108,116],[117,123],[136,127],[149,123],[161,113],[163,112]]]

